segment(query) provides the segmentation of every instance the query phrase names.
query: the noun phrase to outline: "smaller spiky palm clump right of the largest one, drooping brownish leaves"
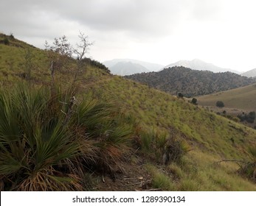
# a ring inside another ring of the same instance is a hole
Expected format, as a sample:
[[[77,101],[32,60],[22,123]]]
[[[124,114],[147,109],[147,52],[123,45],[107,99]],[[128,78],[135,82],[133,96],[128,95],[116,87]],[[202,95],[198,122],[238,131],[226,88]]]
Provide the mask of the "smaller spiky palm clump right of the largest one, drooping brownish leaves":
[[[128,152],[134,127],[111,104],[83,101],[72,121],[80,136],[81,160],[86,166],[115,173]]]

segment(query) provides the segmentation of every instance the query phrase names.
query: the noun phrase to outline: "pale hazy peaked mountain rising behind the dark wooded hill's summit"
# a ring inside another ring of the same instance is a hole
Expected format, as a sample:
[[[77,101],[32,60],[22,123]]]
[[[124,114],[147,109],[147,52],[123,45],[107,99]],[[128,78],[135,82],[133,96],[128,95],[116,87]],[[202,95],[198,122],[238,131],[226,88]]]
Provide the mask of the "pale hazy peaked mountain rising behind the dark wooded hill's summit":
[[[236,74],[240,74],[239,71],[235,71],[229,68],[221,68],[216,65],[213,65],[212,63],[205,63],[202,60],[194,59],[194,60],[181,60],[176,63],[171,63],[170,65],[166,65],[165,68],[171,68],[173,66],[184,66],[186,68],[192,68],[195,70],[201,70],[201,71],[212,71],[212,72],[224,72],[224,71],[231,71]]]

